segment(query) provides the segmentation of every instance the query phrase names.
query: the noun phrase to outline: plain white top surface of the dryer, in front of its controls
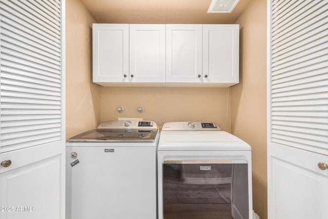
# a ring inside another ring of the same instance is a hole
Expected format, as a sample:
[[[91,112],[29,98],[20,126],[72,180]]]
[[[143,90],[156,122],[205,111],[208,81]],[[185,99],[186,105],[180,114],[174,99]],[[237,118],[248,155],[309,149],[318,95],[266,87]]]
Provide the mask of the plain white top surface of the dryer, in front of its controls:
[[[251,150],[251,146],[225,131],[161,131],[158,151]]]

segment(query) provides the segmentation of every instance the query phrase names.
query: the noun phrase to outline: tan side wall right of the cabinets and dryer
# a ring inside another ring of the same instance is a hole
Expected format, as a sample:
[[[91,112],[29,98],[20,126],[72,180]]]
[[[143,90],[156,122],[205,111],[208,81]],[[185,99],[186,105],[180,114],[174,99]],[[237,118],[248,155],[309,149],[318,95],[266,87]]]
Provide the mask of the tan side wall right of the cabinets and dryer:
[[[267,218],[267,1],[254,0],[238,18],[240,83],[232,87],[232,134],[252,146],[253,209]]]

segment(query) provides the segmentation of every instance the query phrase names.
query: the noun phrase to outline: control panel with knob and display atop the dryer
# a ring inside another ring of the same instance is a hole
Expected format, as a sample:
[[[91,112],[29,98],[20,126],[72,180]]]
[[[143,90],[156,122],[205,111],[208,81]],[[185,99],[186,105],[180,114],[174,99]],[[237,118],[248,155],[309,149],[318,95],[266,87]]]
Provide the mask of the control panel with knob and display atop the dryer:
[[[217,123],[173,122],[165,123],[162,131],[222,131],[222,129]]]

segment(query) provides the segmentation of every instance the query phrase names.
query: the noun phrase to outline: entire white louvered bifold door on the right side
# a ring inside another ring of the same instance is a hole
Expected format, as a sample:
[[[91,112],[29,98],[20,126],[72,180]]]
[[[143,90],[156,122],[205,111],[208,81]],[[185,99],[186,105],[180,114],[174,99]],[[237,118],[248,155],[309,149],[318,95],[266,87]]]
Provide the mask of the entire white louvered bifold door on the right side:
[[[268,0],[268,219],[328,218],[328,1]]]

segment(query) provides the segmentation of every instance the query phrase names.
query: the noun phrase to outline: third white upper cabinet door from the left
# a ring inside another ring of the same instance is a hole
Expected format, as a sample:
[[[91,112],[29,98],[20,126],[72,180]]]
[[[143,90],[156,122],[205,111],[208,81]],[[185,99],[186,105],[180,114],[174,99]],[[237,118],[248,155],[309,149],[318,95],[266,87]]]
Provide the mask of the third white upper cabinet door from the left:
[[[202,25],[166,25],[166,82],[202,81]]]

